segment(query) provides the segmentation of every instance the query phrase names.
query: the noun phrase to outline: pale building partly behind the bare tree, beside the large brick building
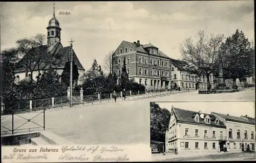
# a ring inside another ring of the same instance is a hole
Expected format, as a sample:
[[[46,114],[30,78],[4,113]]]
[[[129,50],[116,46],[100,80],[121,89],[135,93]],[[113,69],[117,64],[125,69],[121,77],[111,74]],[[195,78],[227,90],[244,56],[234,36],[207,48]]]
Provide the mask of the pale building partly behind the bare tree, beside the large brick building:
[[[195,75],[190,73],[186,68],[186,62],[172,59],[172,81],[173,87],[175,88],[189,88],[192,90],[207,89],[207,78],[206,75]],[[210,74],[210,88],[214,89],[217,87],[217,82],[214,82],[214,76]]]

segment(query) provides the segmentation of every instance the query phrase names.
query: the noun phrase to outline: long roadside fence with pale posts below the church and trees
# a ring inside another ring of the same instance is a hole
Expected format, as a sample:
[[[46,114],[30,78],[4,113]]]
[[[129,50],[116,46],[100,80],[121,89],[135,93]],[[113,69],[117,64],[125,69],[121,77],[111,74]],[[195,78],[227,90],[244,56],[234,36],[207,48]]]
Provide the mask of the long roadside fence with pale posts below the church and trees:
[[[125,100],[135,100],[143,98],[151,98],[156,96],[166,96],[170,94],[177,94],[189,92],[188,88],[182,88],[181,90],[158,90],[158,91],[141,91],[141,92],[117,92],[117,101],[123,100],[123,95],[125,94]],[[81,101],[82,99],[82,101]],[[19,113],[39,111],[51,108],[65,108],[77,105],[88,106],[99,103],[109,103],[114,102],[112,94],[97,94],[97,95],[86,95],[82,97],[74,96],[71,101],[68,97],[57,97],[49,99],[39,99],[39,100],[26,100],[26,101],[12,101],[4,103],[3,115],[12,114],[13,111]]]

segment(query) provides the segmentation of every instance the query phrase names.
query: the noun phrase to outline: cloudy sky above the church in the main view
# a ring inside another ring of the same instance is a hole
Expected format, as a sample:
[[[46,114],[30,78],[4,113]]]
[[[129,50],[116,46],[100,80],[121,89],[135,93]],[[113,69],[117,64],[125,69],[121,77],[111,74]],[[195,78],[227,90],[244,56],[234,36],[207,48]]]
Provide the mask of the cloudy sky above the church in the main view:
[[[47,35],[53,2],[1,3],[1,50],[15,47],[17,39]],[[74,50],[87,70],[95,58],[104,67],[104,57],[122,40],[151,42],[173,59],[179,59],[185,38],[196,41],[199,31],[232,35],[238,29],[254,41],[253,1],[165,2],[56,2],[61,43]],[[59,12],[70,15],[59,15]]]

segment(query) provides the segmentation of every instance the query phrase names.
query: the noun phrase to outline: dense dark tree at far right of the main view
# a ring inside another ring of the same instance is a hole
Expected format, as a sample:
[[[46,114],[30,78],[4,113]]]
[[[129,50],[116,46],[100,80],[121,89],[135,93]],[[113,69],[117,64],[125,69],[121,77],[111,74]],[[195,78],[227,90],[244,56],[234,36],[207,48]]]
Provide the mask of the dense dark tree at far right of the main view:
[[[250,77],[254,73],[254,49],[242,31],[236,31],[221,44],[223,75],[233,80]]]

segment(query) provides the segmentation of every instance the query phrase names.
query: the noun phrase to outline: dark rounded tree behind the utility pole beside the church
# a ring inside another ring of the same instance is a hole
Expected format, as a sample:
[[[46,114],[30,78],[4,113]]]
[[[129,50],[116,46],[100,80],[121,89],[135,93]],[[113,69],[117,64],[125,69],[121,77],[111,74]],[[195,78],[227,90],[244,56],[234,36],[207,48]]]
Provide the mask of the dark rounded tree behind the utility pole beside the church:
[[[78,73],[78,68],[75,62],[73,61],[73,71],[72,71],[72,82],[74,83],[75,80],[78,80],[79,73]],[[65,83],[66,86],[69,87],[69,82],[70,82],[70,62],[68,61],[62,71],[61,74],[61,83]]]

